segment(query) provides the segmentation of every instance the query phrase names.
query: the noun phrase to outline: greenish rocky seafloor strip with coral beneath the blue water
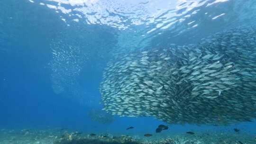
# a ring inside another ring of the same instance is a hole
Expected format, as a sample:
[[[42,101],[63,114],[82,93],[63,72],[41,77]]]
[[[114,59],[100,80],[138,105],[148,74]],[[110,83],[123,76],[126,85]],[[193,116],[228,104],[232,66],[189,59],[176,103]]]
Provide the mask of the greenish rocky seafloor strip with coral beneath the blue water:
[[[0,130],[0,144],[256,144],[256,135],[231,132],[200,132],[166,137],[88,134],[63,129]]]

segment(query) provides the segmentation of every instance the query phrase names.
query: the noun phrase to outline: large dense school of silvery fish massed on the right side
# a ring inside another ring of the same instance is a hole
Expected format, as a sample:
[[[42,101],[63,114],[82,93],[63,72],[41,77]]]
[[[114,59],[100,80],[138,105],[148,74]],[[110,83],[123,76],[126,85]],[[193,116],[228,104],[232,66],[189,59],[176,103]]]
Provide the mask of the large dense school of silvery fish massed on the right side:
[[[229,125],[256,117],[256,29],[216,33],[114,57],[100,85],[104,110],[171,124]]]

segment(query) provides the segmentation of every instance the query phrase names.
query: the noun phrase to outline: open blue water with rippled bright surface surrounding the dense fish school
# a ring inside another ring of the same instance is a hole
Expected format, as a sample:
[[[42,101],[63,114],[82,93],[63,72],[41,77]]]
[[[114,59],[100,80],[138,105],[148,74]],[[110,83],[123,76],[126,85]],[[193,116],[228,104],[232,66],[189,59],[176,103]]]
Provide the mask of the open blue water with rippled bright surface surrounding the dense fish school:
[[[119,52],[196,44],[232,27],[255,26],[255,0],[1,0],[0,129],[64,127],[85,133],[144,135],[154,117],[101,124],[99,85]],[[166,124],[167,125],[167,124]],[[230,131],[256,135],[255,122],[172,125],[159,135]],[[127,127],[134,126],[129,131]]]

